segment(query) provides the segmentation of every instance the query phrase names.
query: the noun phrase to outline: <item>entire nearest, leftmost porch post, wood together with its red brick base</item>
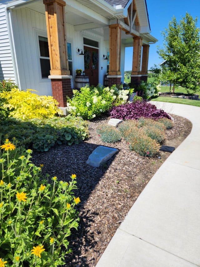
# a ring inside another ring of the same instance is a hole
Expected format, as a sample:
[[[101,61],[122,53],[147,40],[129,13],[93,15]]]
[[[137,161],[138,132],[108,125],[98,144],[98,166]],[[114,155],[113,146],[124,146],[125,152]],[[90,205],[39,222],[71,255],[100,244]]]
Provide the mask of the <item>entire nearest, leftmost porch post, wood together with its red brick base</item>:
[[[65,34],[65,5],[63,0],[43,0],[47,23],[50,76],[53,97],[66,107],[66,96],[72,96]]]

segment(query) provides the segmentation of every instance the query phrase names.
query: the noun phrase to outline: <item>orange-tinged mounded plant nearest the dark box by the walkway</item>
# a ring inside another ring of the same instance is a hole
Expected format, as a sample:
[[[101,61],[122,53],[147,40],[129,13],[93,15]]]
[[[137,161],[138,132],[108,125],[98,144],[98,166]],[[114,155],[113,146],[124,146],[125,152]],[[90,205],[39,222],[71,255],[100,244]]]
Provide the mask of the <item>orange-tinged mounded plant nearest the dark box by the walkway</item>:
[[[140,156],[152,157],[156,155],[160,149],[160,145],[151,137],[143,133],[141,129],[138,129],[134,135],[128,136],[128,144],[130,150],[134,150]]]

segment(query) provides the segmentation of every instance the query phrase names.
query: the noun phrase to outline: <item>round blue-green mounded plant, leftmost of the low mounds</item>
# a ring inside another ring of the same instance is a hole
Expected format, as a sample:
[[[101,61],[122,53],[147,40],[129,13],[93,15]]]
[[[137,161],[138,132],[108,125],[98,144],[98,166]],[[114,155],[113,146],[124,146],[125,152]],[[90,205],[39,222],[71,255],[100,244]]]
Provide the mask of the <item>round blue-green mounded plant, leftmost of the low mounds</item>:
[[[115,127],[103,124],[97,128],[101,140],[106,143],[115,143],[122,139],[122,134]]]

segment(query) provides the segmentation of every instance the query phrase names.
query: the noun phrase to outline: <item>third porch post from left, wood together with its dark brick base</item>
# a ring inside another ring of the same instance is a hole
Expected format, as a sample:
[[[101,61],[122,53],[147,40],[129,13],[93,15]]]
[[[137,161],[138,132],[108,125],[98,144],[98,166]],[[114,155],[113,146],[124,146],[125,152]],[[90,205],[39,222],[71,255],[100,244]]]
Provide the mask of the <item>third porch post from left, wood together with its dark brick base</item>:
[[[131,72],[131,83],[135,85],[140,84],[141,72],[141,52],[143,39],[139,36],[133,37],[133,66]]]

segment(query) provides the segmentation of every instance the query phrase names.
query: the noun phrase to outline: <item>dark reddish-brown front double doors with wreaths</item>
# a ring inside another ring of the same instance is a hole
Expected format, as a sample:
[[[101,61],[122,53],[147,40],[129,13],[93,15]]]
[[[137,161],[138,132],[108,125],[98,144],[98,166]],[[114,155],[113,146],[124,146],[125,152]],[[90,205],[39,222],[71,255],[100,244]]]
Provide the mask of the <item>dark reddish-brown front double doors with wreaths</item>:
[[[98,49],[84,45],[85,75],[89,77],[90,85],[97,86],[99,83],[99,55]]]

